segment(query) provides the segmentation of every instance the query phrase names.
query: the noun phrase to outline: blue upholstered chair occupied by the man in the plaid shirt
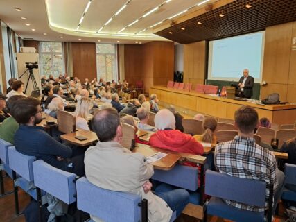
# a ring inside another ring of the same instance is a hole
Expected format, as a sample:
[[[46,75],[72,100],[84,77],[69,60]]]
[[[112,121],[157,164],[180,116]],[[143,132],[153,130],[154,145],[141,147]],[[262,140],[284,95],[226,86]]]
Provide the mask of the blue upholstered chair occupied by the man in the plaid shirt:
[[[227,205],[223,199],[264,207],[265,192],[266,183],[262,180],[238,178],[207,170],[205,194],[210,195],[211,198],[209,203],[207,203],[207,213],[205,214],[204,221],[207,221],[207,214],[216,215],[232,221],[264,221],[264,212],[240,210]],[[272,196],[273,186],[270,186],[268,222],[271,222],[272,218]]]

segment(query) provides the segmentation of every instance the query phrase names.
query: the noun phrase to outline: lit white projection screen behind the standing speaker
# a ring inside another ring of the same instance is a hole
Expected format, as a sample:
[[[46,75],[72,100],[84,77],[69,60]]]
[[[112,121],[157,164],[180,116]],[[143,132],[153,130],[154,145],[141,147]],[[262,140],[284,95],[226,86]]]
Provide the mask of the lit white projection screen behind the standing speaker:
[[[209,42],[208,79],[238,81],[243,69],[261,83],[265,31]]]

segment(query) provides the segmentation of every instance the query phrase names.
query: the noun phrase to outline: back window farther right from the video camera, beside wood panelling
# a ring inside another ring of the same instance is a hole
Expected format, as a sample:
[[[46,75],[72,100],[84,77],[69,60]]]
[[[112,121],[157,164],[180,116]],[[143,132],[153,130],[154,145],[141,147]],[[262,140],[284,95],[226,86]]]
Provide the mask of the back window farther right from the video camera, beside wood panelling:
[[[116,44],[96,44],[96,67],[98,79],[117,82]]]

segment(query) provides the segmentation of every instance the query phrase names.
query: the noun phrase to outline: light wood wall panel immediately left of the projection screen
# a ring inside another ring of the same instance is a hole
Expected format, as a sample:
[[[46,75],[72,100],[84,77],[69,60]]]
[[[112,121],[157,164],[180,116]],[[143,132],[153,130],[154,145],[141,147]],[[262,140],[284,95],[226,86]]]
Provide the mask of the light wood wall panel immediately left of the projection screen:
[[[204,84],[206,50],[205,41],[184,45],[184,83]]]

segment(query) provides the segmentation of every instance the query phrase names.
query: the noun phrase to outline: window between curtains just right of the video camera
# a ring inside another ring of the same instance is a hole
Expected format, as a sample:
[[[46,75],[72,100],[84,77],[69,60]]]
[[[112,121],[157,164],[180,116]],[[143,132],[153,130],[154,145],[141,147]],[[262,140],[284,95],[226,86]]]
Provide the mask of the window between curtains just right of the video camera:
[[[64,73],[64,55],[62,42],[40,43],[40,74],[49,77],[58,77]]]

